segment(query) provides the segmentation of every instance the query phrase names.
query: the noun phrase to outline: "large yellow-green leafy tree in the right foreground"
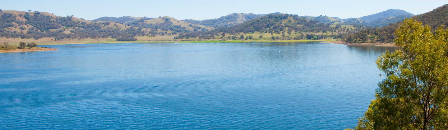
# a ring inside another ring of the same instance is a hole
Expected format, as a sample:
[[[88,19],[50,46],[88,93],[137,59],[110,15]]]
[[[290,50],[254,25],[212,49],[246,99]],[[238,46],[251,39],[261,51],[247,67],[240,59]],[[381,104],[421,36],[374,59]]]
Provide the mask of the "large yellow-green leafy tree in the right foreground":
[[[448,130],[448,30],[406,19],[395,31],[399,50],[377,60],[386,79],[357,130]]]

